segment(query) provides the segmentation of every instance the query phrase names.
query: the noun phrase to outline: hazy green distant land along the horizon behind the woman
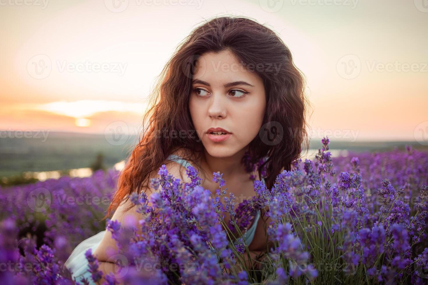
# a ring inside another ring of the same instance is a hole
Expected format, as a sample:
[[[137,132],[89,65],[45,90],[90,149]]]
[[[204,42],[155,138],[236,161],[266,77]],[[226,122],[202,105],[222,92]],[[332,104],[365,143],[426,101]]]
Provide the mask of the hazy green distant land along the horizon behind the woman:
[[[22,136],[22,135],[21,135]],[[105,167],[126,159],[136,144],[137,137],[115,144],[115,138],[97,134],[49,132],[47,138],[34,134],[33,138],[0,138],[0,177],[21,174],[23,171],[66,170],[90,167],[103,155]],[[28,137],[28,136],[27,136]],[[34,138],[35,137],[35,138]],[[109,143],[113,142],[113,144]],[[332,141],[332,150],[385,151],[395,146],[404,149],[405,144],[427,150],[417,142],[346,142]],[[321,147],[321,140],[312,139],[310,149]]]

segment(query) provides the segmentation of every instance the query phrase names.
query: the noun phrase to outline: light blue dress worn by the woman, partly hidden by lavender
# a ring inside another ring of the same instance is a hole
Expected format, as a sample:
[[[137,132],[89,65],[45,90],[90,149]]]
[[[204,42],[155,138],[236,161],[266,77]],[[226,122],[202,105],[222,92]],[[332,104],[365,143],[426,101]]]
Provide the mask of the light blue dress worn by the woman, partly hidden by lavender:
[[[180,156],[177,156],[175,154],[171,154],[168,156],[167,160],[172,160],[175,162],[178,162],[179,164],[183,165],[184,167],[187,167],[190,165],[190,162],[188,162],[185,159],[182,159]],[[265,183],[265,180],[262,178],[262,182]],[[250,245],[253,241],[254,234],[256,232],[256,226],[260,218],[260,211],[257,211],[256,217],[254,217],[254,221],[250,228],[247,229],[247,232],[244,233],[243,239],[247,243],[247,245]],[[81,282],[82,278],[86,278],[89,280],[89,284],[95,285],[95,283],[91,279],[91,273],[88,271],[88,261],[85,257],[85,252],[89,248],[92,249],[92,253],[95,251],[95,249],[98,247],[98,244],[100,244],[101,239],[104,236],[104,233],[106,231],[98,232],[98,234],[93,235],[92,237],[87,238],[86,240],[82,241],[80,244],[77,245],[77,247],[74,248],[74,250],[71,252],[71,255],[68,257],[67,261],[65,261],[65,266],[71,270],[72,277],[76,278],[77,282]],[[241,238],[235,240],[233,244],[238,244],[238,242],[241,240]]]

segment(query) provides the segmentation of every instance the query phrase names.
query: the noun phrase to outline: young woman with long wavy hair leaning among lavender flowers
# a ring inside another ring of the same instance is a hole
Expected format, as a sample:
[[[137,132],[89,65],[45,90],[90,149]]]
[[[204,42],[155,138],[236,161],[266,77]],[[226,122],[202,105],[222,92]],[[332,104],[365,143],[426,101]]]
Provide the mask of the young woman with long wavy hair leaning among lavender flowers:
[[[290,50],[266,26],[220,17],[197,27],[158,79],[140,142],[119,177],[106,217],[115,211],[112,220],[123,224],[131,217],[126,223],[137,225],[141,217],[128,195],[145,191],[149,196],[150,179],[158,177],[163,164],[182,182],[190,182],[185,167],[192,165],[201,186],[214,193],[213,172],[223,173],[238,203],[254,196],[254,179],[272,188],[276,176],[300,156],[302,143],[307,146],[304,89]],[[253,172],[252,165],[257,166]],[[268,251],[266,210],[256,212],[245,234],[254,259]],[[66,266],[74,277],[90,279],[88,248],[104,273],[115,272],[117,247],[110,232],[103,231],[71,254]]]

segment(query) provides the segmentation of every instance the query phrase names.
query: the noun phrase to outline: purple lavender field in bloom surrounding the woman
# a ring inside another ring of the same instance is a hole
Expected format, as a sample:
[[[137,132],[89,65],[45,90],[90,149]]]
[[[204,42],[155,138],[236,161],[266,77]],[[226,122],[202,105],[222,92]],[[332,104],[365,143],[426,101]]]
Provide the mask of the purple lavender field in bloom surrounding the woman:
[[[213,195],[193,167],[190,184],[161,167],[152,180],[158,192],[131,196],[140,234],[101,220],[116,170],[0,188],[0,284],[76,284],[65,260],[106,228],[128,265],[120,277],[103,276],[87,252],[98,284],[427,284],[428,153],[407,147],[335,158],[328,145],[323,139],[315,159],[294,162],[272,189],[255,181],[254,197],[242,203],[221,173]],[[272,221],[270,252],[257,267],[246,262],[248,245],[231,239],[251,222],[244,204],[268,207],[263,218]],[[144,270],[143,260],[203,270]]]

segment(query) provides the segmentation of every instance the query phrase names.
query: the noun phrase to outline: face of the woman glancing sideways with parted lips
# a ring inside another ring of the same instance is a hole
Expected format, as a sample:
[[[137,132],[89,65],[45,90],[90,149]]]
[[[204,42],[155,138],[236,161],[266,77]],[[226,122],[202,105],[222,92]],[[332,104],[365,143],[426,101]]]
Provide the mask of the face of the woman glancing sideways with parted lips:
[[[265,115],[262,79],[246,71],[229,51],[205,53],[199,58],[189,99],[190,116],[205,150],[214,157],[228,157],[259,135]],[[220,127],[231,134],[211,135]],[[211,138],[212,139],[211,139]]]

